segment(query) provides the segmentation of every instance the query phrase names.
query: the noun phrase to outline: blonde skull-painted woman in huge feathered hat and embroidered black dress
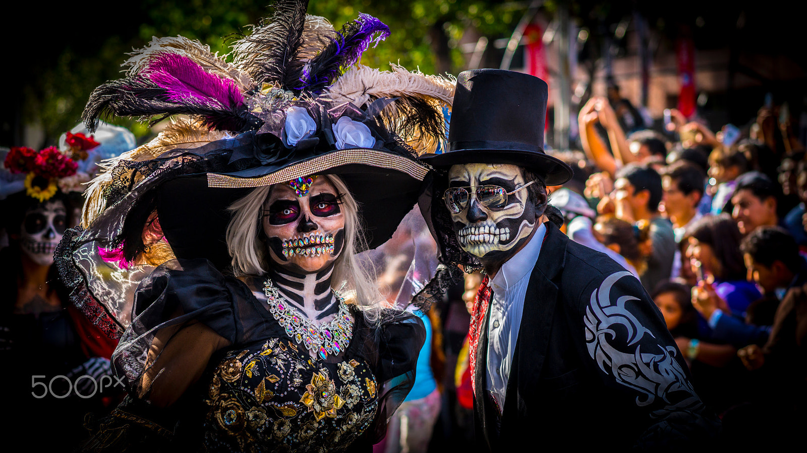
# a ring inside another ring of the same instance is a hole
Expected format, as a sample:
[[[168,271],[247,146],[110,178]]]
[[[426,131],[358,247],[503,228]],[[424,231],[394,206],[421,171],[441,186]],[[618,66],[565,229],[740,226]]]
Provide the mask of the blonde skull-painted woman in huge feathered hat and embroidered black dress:
[[[306,6],[278,2],[232,64],[155,39],[90,97],[90,124],[191,119],[112,162],[56,252],[73,301],[121,337],[128,398],[87,446],[369,449],[411,388],[422,323],[356,254],[415,205],[454,82],[357,64],[387,26],[336,31]]]

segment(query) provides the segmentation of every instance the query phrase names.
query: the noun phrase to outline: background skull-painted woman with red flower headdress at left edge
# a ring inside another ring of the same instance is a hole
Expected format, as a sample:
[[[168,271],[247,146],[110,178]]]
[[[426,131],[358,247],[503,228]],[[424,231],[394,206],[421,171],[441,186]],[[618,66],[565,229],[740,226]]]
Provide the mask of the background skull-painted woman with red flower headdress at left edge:
[[[8,241],[0,250],[0,360],[10,367],[0,386],[15,408],[10,432],[30,434],[37,429],[31,418],[43,412],[61,421],[43,439],[44,447],[74,443],[84,414],[105,411],[115,397],[98,392],[97,383],[102,376],[111,380],[109,359],[117,342],[69,305],[69,291],[52,264],[65,229],[78,220],[80,183],[89,181],[103,156],[133,147],[134,136],[104,125],[102,145],[77,132],[82,128],[62,135],[61,150],[0,152],[0,212]],[[42,385],[48,385],[44,393]]]

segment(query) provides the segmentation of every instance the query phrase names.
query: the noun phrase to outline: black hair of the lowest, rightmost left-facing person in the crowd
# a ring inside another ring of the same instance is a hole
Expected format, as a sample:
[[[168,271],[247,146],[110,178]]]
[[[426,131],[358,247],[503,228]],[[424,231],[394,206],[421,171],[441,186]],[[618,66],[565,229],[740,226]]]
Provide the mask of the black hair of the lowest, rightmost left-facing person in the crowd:
[[[740,251],[766,268],[770,268],[774,261],[781,261],[794,274],[801,270],[804,261],[799,255],[796,239],[780,226],[762,226],[751,231],[742,239]]]

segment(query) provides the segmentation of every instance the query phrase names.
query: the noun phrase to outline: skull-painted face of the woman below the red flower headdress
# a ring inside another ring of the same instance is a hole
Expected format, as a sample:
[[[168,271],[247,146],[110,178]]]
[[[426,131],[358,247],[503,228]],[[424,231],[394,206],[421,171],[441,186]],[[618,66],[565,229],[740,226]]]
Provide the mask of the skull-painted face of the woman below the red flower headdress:
[[[23,253],[40,266],[53,264],[53,251],[67,227],[67,211],[61,201],[47,202],[27,211],[19,229]]]

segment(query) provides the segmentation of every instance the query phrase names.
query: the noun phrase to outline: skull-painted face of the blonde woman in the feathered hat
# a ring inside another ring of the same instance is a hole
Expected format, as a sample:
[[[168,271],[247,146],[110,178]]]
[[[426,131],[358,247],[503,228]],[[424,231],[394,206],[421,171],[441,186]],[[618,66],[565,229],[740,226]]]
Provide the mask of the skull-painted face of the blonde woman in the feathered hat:
[[[290,185],[272,186],[263,206],[263,231],[272,264],[310,274],[326,268],[345,245],[345,215],[328,177],[313,178],[298,194]]]

